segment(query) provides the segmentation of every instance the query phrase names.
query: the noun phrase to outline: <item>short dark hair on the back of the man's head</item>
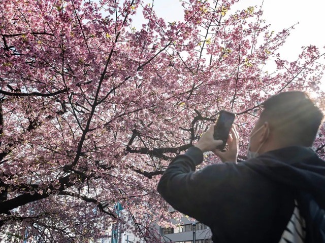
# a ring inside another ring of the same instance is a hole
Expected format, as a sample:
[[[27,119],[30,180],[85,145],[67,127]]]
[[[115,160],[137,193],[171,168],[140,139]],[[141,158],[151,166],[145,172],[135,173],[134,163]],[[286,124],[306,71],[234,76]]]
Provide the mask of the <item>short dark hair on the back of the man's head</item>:
[[[312,146],[323,119],[323,112],[302,91],[271,96],[262,103],[260,119],[268,121],[286,146]]]

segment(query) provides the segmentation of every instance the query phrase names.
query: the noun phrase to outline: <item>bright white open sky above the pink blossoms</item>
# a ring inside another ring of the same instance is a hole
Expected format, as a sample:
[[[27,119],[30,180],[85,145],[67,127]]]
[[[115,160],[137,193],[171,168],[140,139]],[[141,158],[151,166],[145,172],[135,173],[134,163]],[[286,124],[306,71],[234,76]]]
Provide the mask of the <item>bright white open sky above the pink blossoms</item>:
[[[295,26],[290,32],[286,43],[279,48],[281,58],[294,61],[302,51],[303,46],[315,45],[325,53],[325,0],[240,0],[233,6],[236,9],[246,9],[250,6],[261,6],[263,3],[263,18],[271,24],[270,30],[275,32]],[[159,17],[168,22],[182,19],[183,9],[179,0],[154,0],[154,9]],[[229,14],[229,13],[228,13]],[[134,19],[134,24],[143,23],[142,19]],[[322,63],[325,65],[325,59]],[[325,76],[321,88],[325,90]]]

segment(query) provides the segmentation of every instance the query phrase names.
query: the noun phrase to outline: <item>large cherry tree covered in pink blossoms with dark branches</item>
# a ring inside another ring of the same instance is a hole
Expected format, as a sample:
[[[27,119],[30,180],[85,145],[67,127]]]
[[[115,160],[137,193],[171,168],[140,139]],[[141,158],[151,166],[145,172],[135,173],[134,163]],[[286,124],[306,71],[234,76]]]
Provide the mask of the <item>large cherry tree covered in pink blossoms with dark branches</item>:
[[[140,237],[160,242],[153,222],[178,216],[157,181],[219,110],[236,113],[244,159],[265,98],[322,97],[324,54],[278,53],[293,26],[274,33],[256,6],[230,14],[235,0],[181,2],[183,20],[167,22],[153,1],[0,0],[3,238],[89,242],[124,220],[120,203]]]

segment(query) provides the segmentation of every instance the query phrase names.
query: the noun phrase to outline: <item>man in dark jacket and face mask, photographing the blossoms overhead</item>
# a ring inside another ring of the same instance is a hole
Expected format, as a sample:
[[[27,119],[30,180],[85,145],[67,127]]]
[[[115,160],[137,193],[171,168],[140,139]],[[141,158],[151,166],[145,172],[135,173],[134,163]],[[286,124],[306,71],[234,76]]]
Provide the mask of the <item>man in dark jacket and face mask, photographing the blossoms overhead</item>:
[[[325,162],[310,148],[323,114],[299,91],[272,96],[250,133],[248,159],[237,164],[233,126],[228,151],[216,150],[213,126],[195,147],[178,155],[158,184],[176,210],[208,225],[214,242],[310,242],[300,192],[325,206]],[[195,172],[203,152],[225,163]]]

